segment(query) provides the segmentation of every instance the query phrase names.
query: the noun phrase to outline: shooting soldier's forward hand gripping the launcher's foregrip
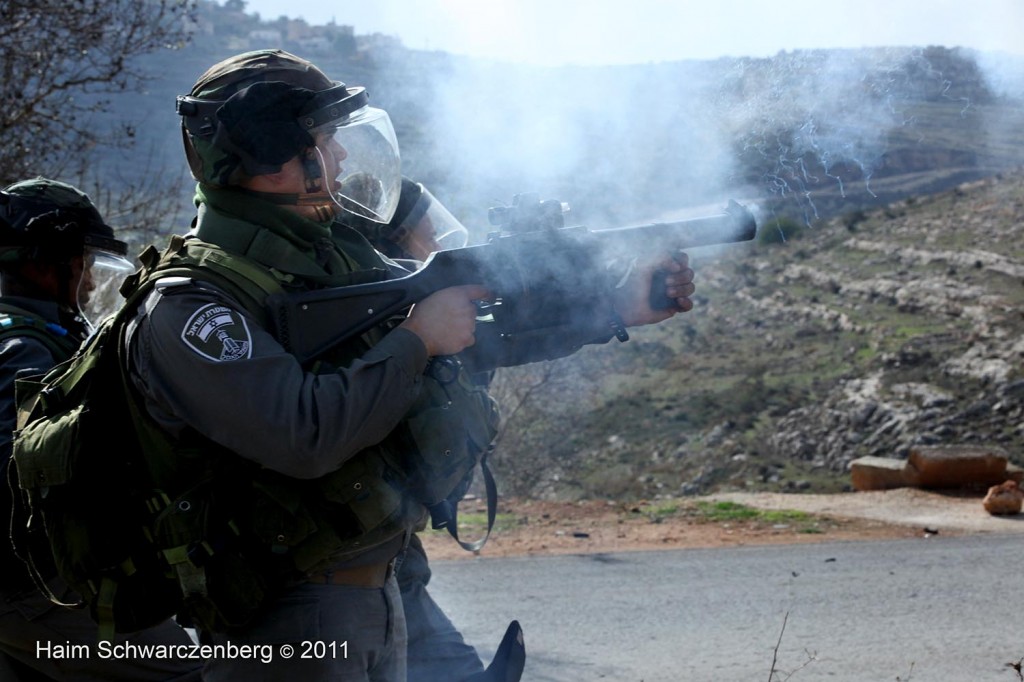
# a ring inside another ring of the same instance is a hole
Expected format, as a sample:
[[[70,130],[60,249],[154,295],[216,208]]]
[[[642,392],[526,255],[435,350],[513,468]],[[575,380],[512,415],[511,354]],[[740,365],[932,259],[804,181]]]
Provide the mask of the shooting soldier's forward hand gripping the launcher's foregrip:
[[[651,276],[656,270],[667,273],[665,278],[665,295],[674,302],[674,306],[666,310],[655,310],[650,307]],[[677,312],[686,312],[693,308],[693,270],[689,266],[689,257],[685,253],[677,253],[675,257],[666,256],[660,260],[641,262],[630,274],[626,283],[615,292],[615,312],[623,318],[627,327],[653,325],[673,316]]]

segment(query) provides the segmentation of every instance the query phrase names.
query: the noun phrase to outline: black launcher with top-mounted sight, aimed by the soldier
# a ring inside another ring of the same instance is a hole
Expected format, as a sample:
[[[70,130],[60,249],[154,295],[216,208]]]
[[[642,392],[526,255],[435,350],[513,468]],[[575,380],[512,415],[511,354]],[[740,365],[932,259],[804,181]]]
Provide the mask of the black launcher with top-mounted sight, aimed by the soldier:
[[[754,215],[730,201],[724,213],[631,227],[590,230],[564,227],[567,205],[517,195],[512,206],[488,211],[501,230],[484,244],[438,251],[406,276],[374,270],[382,281],[279,294],[268,300],[276,337],[300,361],[394,316],[430,294],[460,285],[482,285],[494,300],[481,305],[486,323],[477,325],[474,346],[511,345],[515,339],[593,328],[595,310],[607,308],[624,263],[695,247],[748,242],[757,235]],[[667,309],[664,272],[651,283],[651,307]],[[617,333],[616,333],[617,334]],[[481,356],[487,348],[476,348]],[[494,352],[488,357],[499,357]],[[492,360],[483,363],[490,364]],[[502,360],[493,360],[501,367]],[[490,369],[479,367],[477,369]]]

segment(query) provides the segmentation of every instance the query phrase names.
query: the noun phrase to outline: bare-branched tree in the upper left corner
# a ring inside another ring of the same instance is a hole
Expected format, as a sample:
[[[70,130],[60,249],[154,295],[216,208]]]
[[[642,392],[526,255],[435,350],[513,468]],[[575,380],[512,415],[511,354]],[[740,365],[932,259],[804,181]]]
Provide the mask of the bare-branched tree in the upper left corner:
[[[142,83],[136,57],[181,47],[195,0],[0,0],[0,183],[58,175],[130,143],[102,115]],[[121,117],[124,118],[124,117]]]

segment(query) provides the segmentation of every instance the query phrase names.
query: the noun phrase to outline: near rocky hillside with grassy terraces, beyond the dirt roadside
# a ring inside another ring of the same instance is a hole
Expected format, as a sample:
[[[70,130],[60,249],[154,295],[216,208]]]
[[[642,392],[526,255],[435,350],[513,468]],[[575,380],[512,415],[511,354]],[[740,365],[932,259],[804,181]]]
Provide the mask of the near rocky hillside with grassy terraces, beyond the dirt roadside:
[[[503,371],[503,488],[830,492],[915,443],[1024,463],[1022,239],[1024,172],[694,251],[692,312]]]

